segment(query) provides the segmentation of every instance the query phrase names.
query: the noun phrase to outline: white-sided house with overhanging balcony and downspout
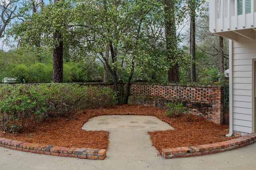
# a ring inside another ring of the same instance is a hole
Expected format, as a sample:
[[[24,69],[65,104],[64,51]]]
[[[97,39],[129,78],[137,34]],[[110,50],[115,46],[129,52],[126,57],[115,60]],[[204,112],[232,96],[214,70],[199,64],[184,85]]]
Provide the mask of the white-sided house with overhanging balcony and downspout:
[[[256,132],[256,0],[210,0],[210,31],[230,39],[230,132]]]

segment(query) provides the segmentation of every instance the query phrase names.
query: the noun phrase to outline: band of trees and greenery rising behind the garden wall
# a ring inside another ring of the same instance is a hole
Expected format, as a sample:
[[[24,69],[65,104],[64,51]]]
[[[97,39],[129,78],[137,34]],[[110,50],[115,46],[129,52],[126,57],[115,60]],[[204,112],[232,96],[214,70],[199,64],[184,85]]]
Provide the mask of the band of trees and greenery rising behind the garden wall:
[[[197,8],[192,8],[192,2],[197,2]],[[195,10],[205,5],[199,2],[202,1],[25,2],[18,11],[23,14],[22,20],[10,23],[12,28],[8,30],[18,48],[1,51],[0,78],[21,77],[31,83],[62,82],[62,77],[64,82],[113,81],[118,93],[119,80],[128,84],[189,82],[194,64],[197,82],[218,81],[220,49],[228,58],[228,47],[224,39],[224,47],[220,48],[218,37],[209,33],[207,10]],[[191,17],[187,18],[187,14]],[[193,46],[188,45],[192,40],[186,39],[190,35],[186,33],[190,19],[196,23],[196,34],[190,36],[196,40],[192,59],[186,51]],[[182,33],[186,36],[180,36]],[[15,60],[14,56],[20,57]],[[226,59],[224,66],[228,68]],[[214,72],[217,78],[206,78],[207,72]]]

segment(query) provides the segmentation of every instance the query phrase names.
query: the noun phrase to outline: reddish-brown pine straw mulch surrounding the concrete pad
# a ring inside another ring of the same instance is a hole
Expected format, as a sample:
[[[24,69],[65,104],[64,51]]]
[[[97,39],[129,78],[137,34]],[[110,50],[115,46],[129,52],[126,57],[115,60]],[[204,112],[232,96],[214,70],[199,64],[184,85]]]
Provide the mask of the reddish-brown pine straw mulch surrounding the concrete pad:
[[[108,108],[84,109],[62,118],[48,118],[43,123],[28,123],[22,133],[3,133],[0,137],[22,142],[76,147],[108,148],[108,132],[86,131],[82,126],[88,119],[100,115],[150,115],[170,124],[174,130],[148,132],[153,145],[161,153],[162,148],[210,144],[235,138],[226,137],[228,126],[217,125],[194,115],[183,114],[169,118],[165,110],[142,105],[113,105]]]

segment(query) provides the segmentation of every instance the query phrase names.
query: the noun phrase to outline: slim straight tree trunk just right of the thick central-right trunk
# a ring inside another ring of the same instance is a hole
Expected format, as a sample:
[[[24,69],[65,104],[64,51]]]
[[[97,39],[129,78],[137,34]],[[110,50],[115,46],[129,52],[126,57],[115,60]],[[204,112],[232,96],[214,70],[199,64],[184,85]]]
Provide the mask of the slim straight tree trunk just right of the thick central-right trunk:
[[[195,1],[190,1],[190,81],[196,82],[196,8]]]

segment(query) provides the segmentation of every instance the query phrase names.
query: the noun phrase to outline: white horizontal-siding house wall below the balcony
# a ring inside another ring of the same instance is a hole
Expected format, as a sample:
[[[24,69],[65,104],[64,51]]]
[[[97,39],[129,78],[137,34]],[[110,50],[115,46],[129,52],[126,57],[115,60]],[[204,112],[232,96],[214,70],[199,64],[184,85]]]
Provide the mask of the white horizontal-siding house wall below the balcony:
[[[233,112],[233,130],[252,132],[252,62],[256,58],[256,41],[231,41],[232,57],[230,111]]]

